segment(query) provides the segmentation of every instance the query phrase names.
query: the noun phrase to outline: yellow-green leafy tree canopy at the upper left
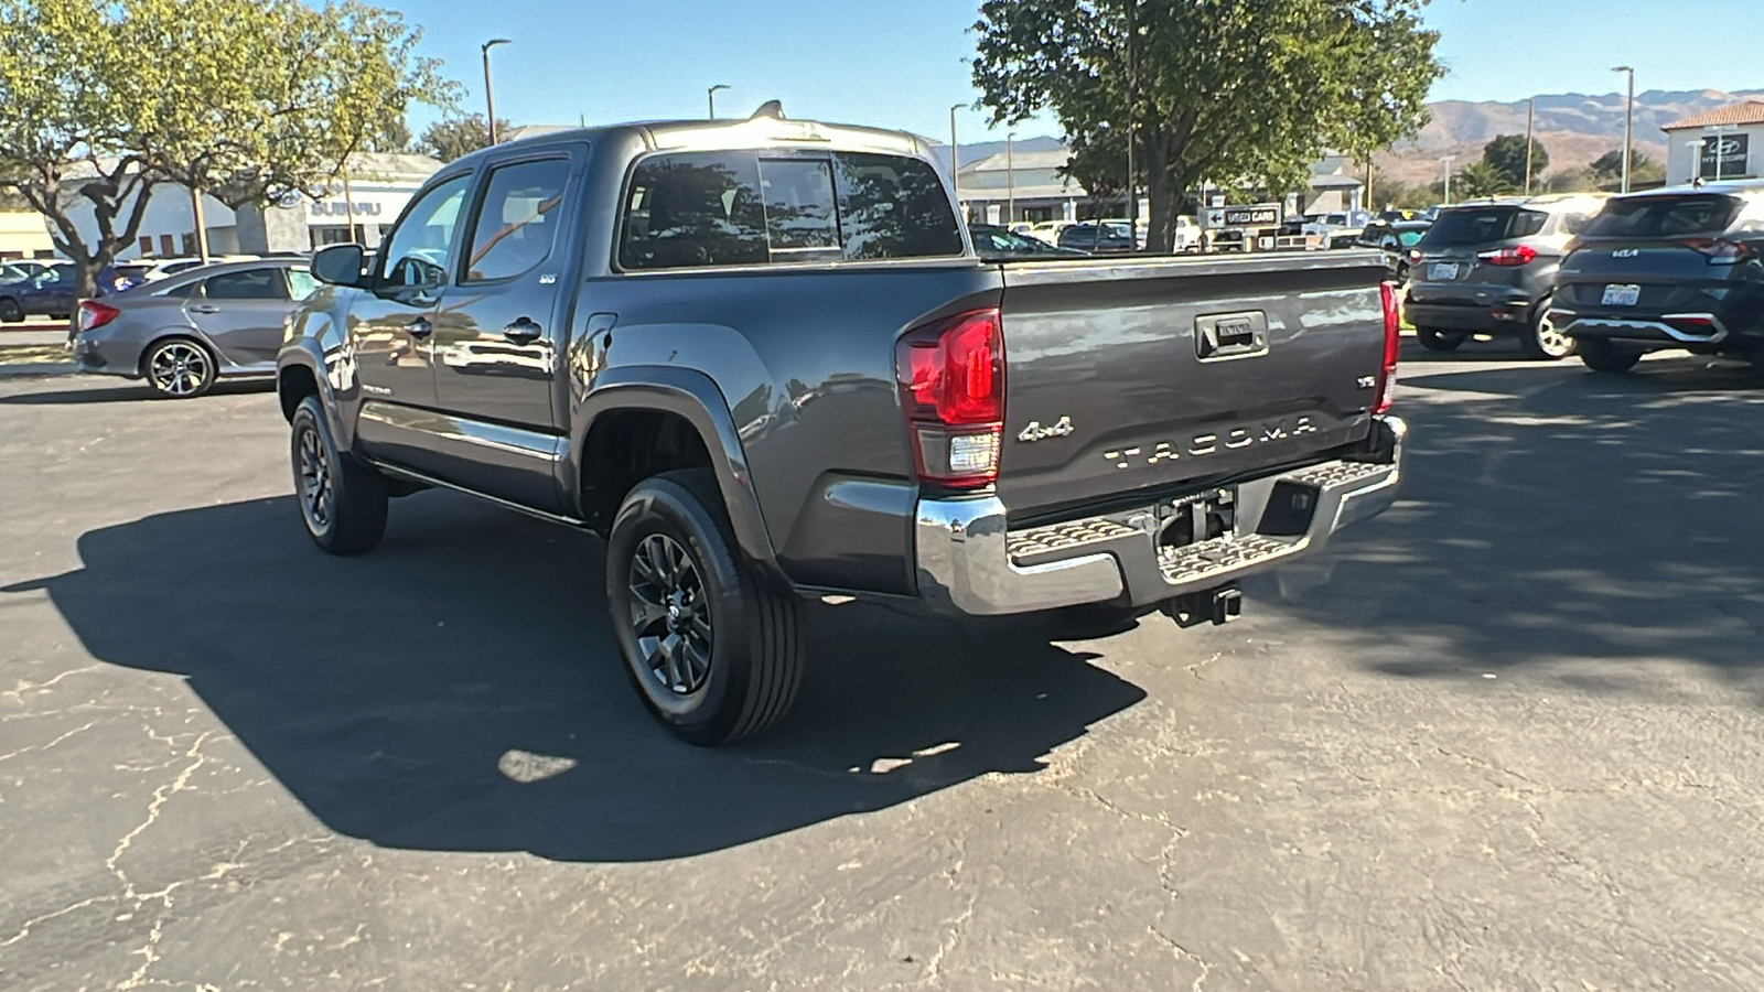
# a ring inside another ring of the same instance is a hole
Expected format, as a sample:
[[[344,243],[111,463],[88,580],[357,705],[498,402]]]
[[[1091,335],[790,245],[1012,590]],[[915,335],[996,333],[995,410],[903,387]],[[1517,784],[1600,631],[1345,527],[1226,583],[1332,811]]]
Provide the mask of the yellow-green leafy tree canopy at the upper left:
[[[0,185],[90,279],[157,182],[235,208],[323,196],[411,102],[452,101],[420,37],[360,0],[0,0]]]

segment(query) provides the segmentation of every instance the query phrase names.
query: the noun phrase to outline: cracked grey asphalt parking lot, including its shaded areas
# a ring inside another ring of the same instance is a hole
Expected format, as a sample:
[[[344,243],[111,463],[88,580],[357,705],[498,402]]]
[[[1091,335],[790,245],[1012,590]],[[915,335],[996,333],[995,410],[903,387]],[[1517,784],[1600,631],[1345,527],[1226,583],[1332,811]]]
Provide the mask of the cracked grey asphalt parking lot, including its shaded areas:
[[[314,551],[273,395],[0,380],[0,987],[1764,988],[1764,388],[1404,355],[1240,623],[811,620],[651,724],[584,535]]]

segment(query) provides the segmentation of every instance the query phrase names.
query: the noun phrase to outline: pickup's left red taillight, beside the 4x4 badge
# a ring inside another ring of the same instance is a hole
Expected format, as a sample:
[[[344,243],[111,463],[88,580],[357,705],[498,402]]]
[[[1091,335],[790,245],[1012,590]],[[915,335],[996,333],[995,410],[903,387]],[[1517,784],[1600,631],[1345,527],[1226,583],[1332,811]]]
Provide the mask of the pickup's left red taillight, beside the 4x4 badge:
[[[997,482],[1004,436],[998,311],[908,330],[894,348],[894,372],[919,478],[954,489]]]

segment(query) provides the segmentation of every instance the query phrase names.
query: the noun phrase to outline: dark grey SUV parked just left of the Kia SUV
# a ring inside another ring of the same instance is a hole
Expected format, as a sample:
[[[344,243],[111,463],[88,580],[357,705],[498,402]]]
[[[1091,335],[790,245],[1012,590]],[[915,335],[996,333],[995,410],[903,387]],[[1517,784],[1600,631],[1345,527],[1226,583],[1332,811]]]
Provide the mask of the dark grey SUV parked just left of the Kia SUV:
[[[1573,341],[1551,319],[1568,242],[1598,196],[1480,199],[1439,212],[1409,252],[1408,318],[1424,348],[1450,351],[1473,334],[1517,337],[1533,358],[1566,358]]]

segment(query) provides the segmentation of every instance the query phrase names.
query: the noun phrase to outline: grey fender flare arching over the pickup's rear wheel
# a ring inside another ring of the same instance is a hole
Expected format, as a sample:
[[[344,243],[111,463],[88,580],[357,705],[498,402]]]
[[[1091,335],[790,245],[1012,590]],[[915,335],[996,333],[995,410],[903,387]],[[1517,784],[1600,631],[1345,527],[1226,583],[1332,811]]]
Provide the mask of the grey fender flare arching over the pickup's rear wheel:
[[[753,489],[753,477],[748,471],[741,434],[736,431],[736,420],[729,411],[729,401],[723,397],[723,390],[704,372],[669,365],[605,369],[594,380],[593,392],[572,411],[572,475],[577,480],[582,478],[587,432],[593,429],[594,420],[605,413],[628,410],[674,413],[699,431],[699,438],[711,454],[716,487],[723,494],[729,522],[736,531],[736,544],[741,545],[750,561],[759,563],[776,577],[783,577],[771,533],[766,528],[766,517],[760,514],[760,501]],[[577,487],[577,492],[580,492],[580,487]]]

